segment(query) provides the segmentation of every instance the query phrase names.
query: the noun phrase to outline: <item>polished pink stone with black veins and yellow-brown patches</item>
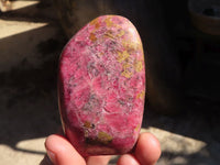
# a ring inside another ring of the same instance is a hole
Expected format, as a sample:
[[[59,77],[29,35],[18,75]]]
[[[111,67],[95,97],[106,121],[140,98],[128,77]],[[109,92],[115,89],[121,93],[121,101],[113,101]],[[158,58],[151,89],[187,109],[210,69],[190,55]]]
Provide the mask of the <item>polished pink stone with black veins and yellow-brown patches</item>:
[[[103,15],[84,26],[62,53],[58,89],[65,134],[81,155],[132,151],[145,96],[144,55],[134,25]]]

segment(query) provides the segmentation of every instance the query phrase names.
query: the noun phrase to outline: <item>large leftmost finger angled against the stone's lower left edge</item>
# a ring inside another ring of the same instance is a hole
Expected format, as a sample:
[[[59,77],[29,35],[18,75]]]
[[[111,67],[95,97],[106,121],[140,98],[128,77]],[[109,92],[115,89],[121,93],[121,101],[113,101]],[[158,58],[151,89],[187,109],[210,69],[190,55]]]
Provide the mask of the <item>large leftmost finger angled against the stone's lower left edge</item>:
[[[62,135],[53,134],[46,139],[45,147],[54,165],[86,165],[85,160]]]

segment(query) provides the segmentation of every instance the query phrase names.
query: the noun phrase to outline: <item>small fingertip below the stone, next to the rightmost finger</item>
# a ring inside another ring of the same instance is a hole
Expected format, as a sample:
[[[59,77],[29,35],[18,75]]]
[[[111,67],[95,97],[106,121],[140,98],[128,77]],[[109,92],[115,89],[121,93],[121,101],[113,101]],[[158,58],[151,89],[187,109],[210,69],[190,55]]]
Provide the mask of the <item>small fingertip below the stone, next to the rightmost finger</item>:
[[[117,165],[140,165],[139,161],[130,154],[122,155]]]

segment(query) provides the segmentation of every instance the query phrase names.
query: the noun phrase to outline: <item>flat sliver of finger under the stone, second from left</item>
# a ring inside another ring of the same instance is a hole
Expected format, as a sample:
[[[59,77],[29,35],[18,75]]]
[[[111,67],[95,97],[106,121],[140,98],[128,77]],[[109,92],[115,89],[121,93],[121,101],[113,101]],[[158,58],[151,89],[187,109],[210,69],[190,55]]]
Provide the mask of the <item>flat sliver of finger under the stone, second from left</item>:
[[[87,165],[108,165],[111,156],[90,156],[87,158]]]

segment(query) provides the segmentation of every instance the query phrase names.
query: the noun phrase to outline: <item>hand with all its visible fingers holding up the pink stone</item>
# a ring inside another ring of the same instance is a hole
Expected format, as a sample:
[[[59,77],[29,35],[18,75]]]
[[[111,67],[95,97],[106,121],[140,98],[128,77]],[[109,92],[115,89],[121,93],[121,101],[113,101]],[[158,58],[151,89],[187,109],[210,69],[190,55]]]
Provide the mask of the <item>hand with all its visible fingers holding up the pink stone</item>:
[[[41,165],[107,165],[111,156],[82,157],[63,135],[53,134],[45,141],[47,155]],[[139,136],[132,154],[121,155],[117,165],[154,165],[161,156],[157,139],[151,133]]]

